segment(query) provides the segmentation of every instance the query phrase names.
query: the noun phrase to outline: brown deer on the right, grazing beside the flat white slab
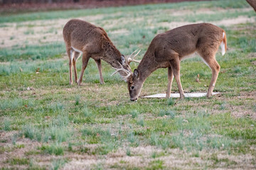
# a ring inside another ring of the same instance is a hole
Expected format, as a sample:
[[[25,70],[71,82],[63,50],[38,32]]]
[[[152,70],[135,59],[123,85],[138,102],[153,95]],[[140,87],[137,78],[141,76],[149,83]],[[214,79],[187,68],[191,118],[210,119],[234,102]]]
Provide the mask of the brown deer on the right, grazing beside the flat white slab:
[[[206,94],[210,98],[220,72],[220,65],[215,60],[215,53],[219,46],[224,55],[227,50],[225,30],[210,23],[181,26],[156,35],[137,69],[134,69],[133,73],[127,73],[130,100],[137,101],[144,81],[159,68],[168,68],[166,98],[171,96],[171,84],[174,78],[178,85],[180,99],[184,98],[180,80],[180,62],[192,57],[194,53],[198,54],[212,71],[210,86]]]

